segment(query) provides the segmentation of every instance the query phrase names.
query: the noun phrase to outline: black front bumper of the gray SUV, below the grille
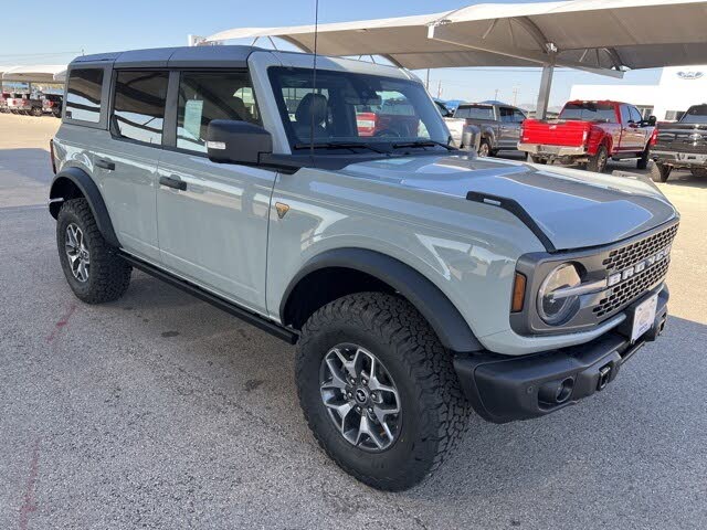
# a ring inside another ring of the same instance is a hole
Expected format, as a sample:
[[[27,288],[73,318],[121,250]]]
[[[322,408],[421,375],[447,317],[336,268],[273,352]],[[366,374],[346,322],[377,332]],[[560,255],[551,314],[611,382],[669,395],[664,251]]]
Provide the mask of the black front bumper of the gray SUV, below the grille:
[[[585,344],[513,358],[458,353],[454,368],[464,393],[484,420],[507,423],[544,416],[603,390],[624,362],[663,331],[667,288],[658,294],[653,327],[631,343],[631,314],[643,299],[626,310],[625,324]]]

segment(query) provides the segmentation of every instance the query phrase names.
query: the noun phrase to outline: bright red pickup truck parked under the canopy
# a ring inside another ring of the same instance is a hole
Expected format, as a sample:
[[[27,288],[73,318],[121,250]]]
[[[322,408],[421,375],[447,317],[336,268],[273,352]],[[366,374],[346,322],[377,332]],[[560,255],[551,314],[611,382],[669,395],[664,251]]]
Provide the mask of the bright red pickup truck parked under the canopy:
[[[619,102],[569,102],[558,119],[526,119],[518,149],[535,163],[559,160],[602,172],[609,158],[648,163],[655,141],[655,117],[643,119],[633,105]]]

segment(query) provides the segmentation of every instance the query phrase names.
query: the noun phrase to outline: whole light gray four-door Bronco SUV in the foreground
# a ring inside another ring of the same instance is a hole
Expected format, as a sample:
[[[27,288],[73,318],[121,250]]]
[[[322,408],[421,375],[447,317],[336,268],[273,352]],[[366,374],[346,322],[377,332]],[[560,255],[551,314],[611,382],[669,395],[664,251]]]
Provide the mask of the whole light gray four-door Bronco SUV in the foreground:
[[[440,466],[471,407],[549,414],[656,339],[678,223],[659,191],[476,158],[409,72],[313,63],[71,63],[49,209],[75,295],[115,300],[138,268],[296,343],[315,437],[390,490]]]

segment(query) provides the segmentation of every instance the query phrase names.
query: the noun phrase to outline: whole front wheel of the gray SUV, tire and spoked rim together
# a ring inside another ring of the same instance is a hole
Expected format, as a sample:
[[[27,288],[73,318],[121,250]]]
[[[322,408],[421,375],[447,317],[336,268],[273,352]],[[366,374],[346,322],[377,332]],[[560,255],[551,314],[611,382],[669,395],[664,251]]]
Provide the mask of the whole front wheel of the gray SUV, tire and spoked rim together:
[[[392,295],[350,295],[315,312],[302,331],[296,383],[319,445],[378,489],[420,483],[466,426],[450,353],[422,316]]]

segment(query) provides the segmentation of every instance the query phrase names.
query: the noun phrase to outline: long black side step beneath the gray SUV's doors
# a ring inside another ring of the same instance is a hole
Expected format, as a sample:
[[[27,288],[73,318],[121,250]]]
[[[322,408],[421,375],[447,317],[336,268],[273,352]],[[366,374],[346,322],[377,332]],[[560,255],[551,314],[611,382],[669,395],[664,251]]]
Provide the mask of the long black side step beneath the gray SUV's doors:
[[[281,326],[279,324],[273,322],[272,320],[261,317],[260,315],[249,309],[245,309],[241,306],[233,304],[232,301],[229,301],[217,295],[213,295],[208,290],[204,290],[201,287],[190,282],[187,282],[186,279],[179,278],[170,273],[167,273],[160,268],[157,268],[156,266],[150,265],[149,263],[146,263],[135,256],[126,254],[125,252],[120,251],[118,254],[123,259],[128,262],[135,268],[140,269],[144,273],[149,274],[150,276],[155,276],[156,278],[161,279],[162,282],[173,287],[177,287],[178,289],[189,293],[190,295],[199,298],[200,300],[207,301],[212,306],[218,307],[219,309],[225,312],[229,312],[234,317],[238,317],[241,320],[252,326],[255,326],[256,328],[262,329],[263,331],[267,331],[268,333],[277,337],[278,339],[284,340],[289,344],[295,344],[299,339],[299,335],[289,328],[286,328],[284,326]]]

